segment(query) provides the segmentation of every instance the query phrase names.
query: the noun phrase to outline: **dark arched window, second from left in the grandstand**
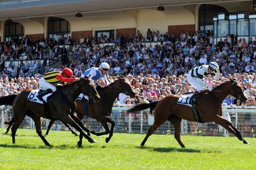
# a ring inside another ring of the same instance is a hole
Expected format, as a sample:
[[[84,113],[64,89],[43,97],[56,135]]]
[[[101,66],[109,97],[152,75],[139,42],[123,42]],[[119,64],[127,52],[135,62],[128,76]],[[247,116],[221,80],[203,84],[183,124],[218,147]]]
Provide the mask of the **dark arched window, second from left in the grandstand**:
[[[67,20],[57,17],[49,17],[48,37],[58,40],[59,37],[68,38],[70,36],[70,23]]]

